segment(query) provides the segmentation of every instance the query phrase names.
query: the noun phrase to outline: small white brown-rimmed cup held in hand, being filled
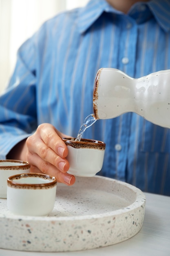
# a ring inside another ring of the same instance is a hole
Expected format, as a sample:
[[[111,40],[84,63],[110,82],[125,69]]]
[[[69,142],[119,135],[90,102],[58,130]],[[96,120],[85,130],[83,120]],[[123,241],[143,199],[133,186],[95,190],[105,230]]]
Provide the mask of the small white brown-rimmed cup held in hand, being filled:
[[[70,164],[69,174],[93,177],[102,169],[106,144],[92,139],[63,138],[67,148],[66,159]]]

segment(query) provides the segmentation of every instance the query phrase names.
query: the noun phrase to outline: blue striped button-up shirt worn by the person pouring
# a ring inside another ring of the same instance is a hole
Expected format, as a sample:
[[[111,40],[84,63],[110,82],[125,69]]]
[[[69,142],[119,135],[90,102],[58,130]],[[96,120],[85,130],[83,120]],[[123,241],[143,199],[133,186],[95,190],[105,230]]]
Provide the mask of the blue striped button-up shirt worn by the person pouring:
[[[0,97],[0,158],[44,122],[76,137],[101,67],[135,78],[170,69],[170,1],[137,2],[125,15],[91,0],[46,21],[18,50]],[[106,143],[100,175],[170,195],[169,129],[129,112],[97,120],[83,137]]]

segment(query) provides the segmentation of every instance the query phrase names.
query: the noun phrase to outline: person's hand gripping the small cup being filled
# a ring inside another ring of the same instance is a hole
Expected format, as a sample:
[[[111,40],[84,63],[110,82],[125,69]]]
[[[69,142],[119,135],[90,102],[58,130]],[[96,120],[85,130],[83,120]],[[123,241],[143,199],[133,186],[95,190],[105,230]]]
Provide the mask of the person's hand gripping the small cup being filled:
[[[26,160],[31,165],[31,172],[45,173],[67,185],[75,183],[75,177],[66,173],[69,163],[66,160],[68,149],[62,134],[51,124],[40,124],[33,135],[26,139]]]

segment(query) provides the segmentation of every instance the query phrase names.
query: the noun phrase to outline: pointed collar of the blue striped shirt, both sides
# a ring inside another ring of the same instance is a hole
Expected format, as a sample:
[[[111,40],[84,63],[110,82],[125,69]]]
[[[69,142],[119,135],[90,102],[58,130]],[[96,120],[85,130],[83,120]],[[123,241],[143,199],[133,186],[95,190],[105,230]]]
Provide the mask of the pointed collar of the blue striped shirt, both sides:
[[[141,3],[137,2],[135,5]],[[149,2],[143,2],[146,4],[152,15],[155,17],[159,25],[163,30],[170,30],[170,1],[169,0],[151,0]],[[117,14],[122,14],[120,11],[115,10],[106,0],[91,0],[88,4],[79,9],[77,26],[80,33],[85,32],[102,13],[112,12]]]

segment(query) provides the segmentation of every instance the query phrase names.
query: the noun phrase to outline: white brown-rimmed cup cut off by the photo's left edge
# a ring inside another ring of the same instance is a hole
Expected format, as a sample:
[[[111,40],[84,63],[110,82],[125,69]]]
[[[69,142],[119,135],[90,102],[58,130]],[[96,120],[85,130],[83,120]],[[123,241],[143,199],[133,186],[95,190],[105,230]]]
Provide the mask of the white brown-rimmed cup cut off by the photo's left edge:
[[[7,198],[7,178],[11,175],[29,173],[30,164],[20,160],[0,160],[0,198]]]

